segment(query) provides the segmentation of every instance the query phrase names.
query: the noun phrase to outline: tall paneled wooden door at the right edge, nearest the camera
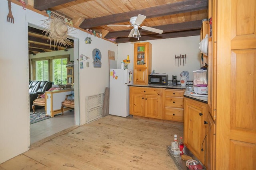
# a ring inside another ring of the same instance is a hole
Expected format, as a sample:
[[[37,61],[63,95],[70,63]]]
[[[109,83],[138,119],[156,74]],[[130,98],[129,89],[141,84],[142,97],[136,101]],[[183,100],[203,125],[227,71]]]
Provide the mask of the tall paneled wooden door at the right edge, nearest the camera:
[[[219,0],[216,169],[256,169],[256,1]]]

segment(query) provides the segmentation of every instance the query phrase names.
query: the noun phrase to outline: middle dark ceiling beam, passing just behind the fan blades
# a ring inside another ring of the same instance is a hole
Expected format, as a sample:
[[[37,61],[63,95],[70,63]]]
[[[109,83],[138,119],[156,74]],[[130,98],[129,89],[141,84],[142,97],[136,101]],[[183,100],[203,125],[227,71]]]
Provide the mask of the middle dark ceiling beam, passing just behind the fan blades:
[[[188,21],[188,22],[183,22],[183,23],[160,25],[160,26],[156,26],[153,28],[162,29],[164,31],[164,33],[167,33],[167,32],[185,31],[185,30],[191,30],[191,29],[200,29],[201,25],[202,25],[202,20],[197,20],[197,21]],[[105,38],[128,37],[130,31],[131,31],[131,29],[128,29],[125,31],[109,32],[105,36]],[[148,34],[152,34],[152,32],[140,29],[140,35],[148,35]]]

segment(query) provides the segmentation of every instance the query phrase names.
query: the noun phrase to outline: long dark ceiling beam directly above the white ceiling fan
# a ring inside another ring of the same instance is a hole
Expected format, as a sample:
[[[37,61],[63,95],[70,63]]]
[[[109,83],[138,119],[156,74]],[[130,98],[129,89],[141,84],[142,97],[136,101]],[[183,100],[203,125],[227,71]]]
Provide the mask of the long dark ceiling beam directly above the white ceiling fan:
[[[83,29],[86,29],[86,28],[97,27],[101,25],[127,22],[127,21],[130,21],[130,18],[132,16],[138,16],[138,14],[142,14],[147,18],[154,18],[159,16],[193,12],[193,11],[204,10],[204,9],[208,9],[208,0],[184,0],[184,1],[174,2],[171,4],[162,5],[162,6],[145,8],[142,10],[123,12],[120,14],[113,14],[109,16],[87,19],[81,23],[80,27]]]

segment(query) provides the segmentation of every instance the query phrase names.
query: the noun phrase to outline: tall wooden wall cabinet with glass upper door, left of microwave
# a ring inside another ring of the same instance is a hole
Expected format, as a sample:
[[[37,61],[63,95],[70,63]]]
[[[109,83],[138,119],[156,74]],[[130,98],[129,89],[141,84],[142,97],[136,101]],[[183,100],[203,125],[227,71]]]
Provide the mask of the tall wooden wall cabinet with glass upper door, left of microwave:
[[[134,43],[133,83],[148,85],[148,75],[151,73],[152,44]]]

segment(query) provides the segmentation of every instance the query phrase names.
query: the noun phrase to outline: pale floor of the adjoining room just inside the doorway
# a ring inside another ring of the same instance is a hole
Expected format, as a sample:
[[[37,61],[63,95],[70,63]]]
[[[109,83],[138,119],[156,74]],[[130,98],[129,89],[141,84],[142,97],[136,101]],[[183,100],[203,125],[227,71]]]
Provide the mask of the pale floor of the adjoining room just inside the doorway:
[[[75,125],[74,110],[30,125],[30,143],[35,143]]]

